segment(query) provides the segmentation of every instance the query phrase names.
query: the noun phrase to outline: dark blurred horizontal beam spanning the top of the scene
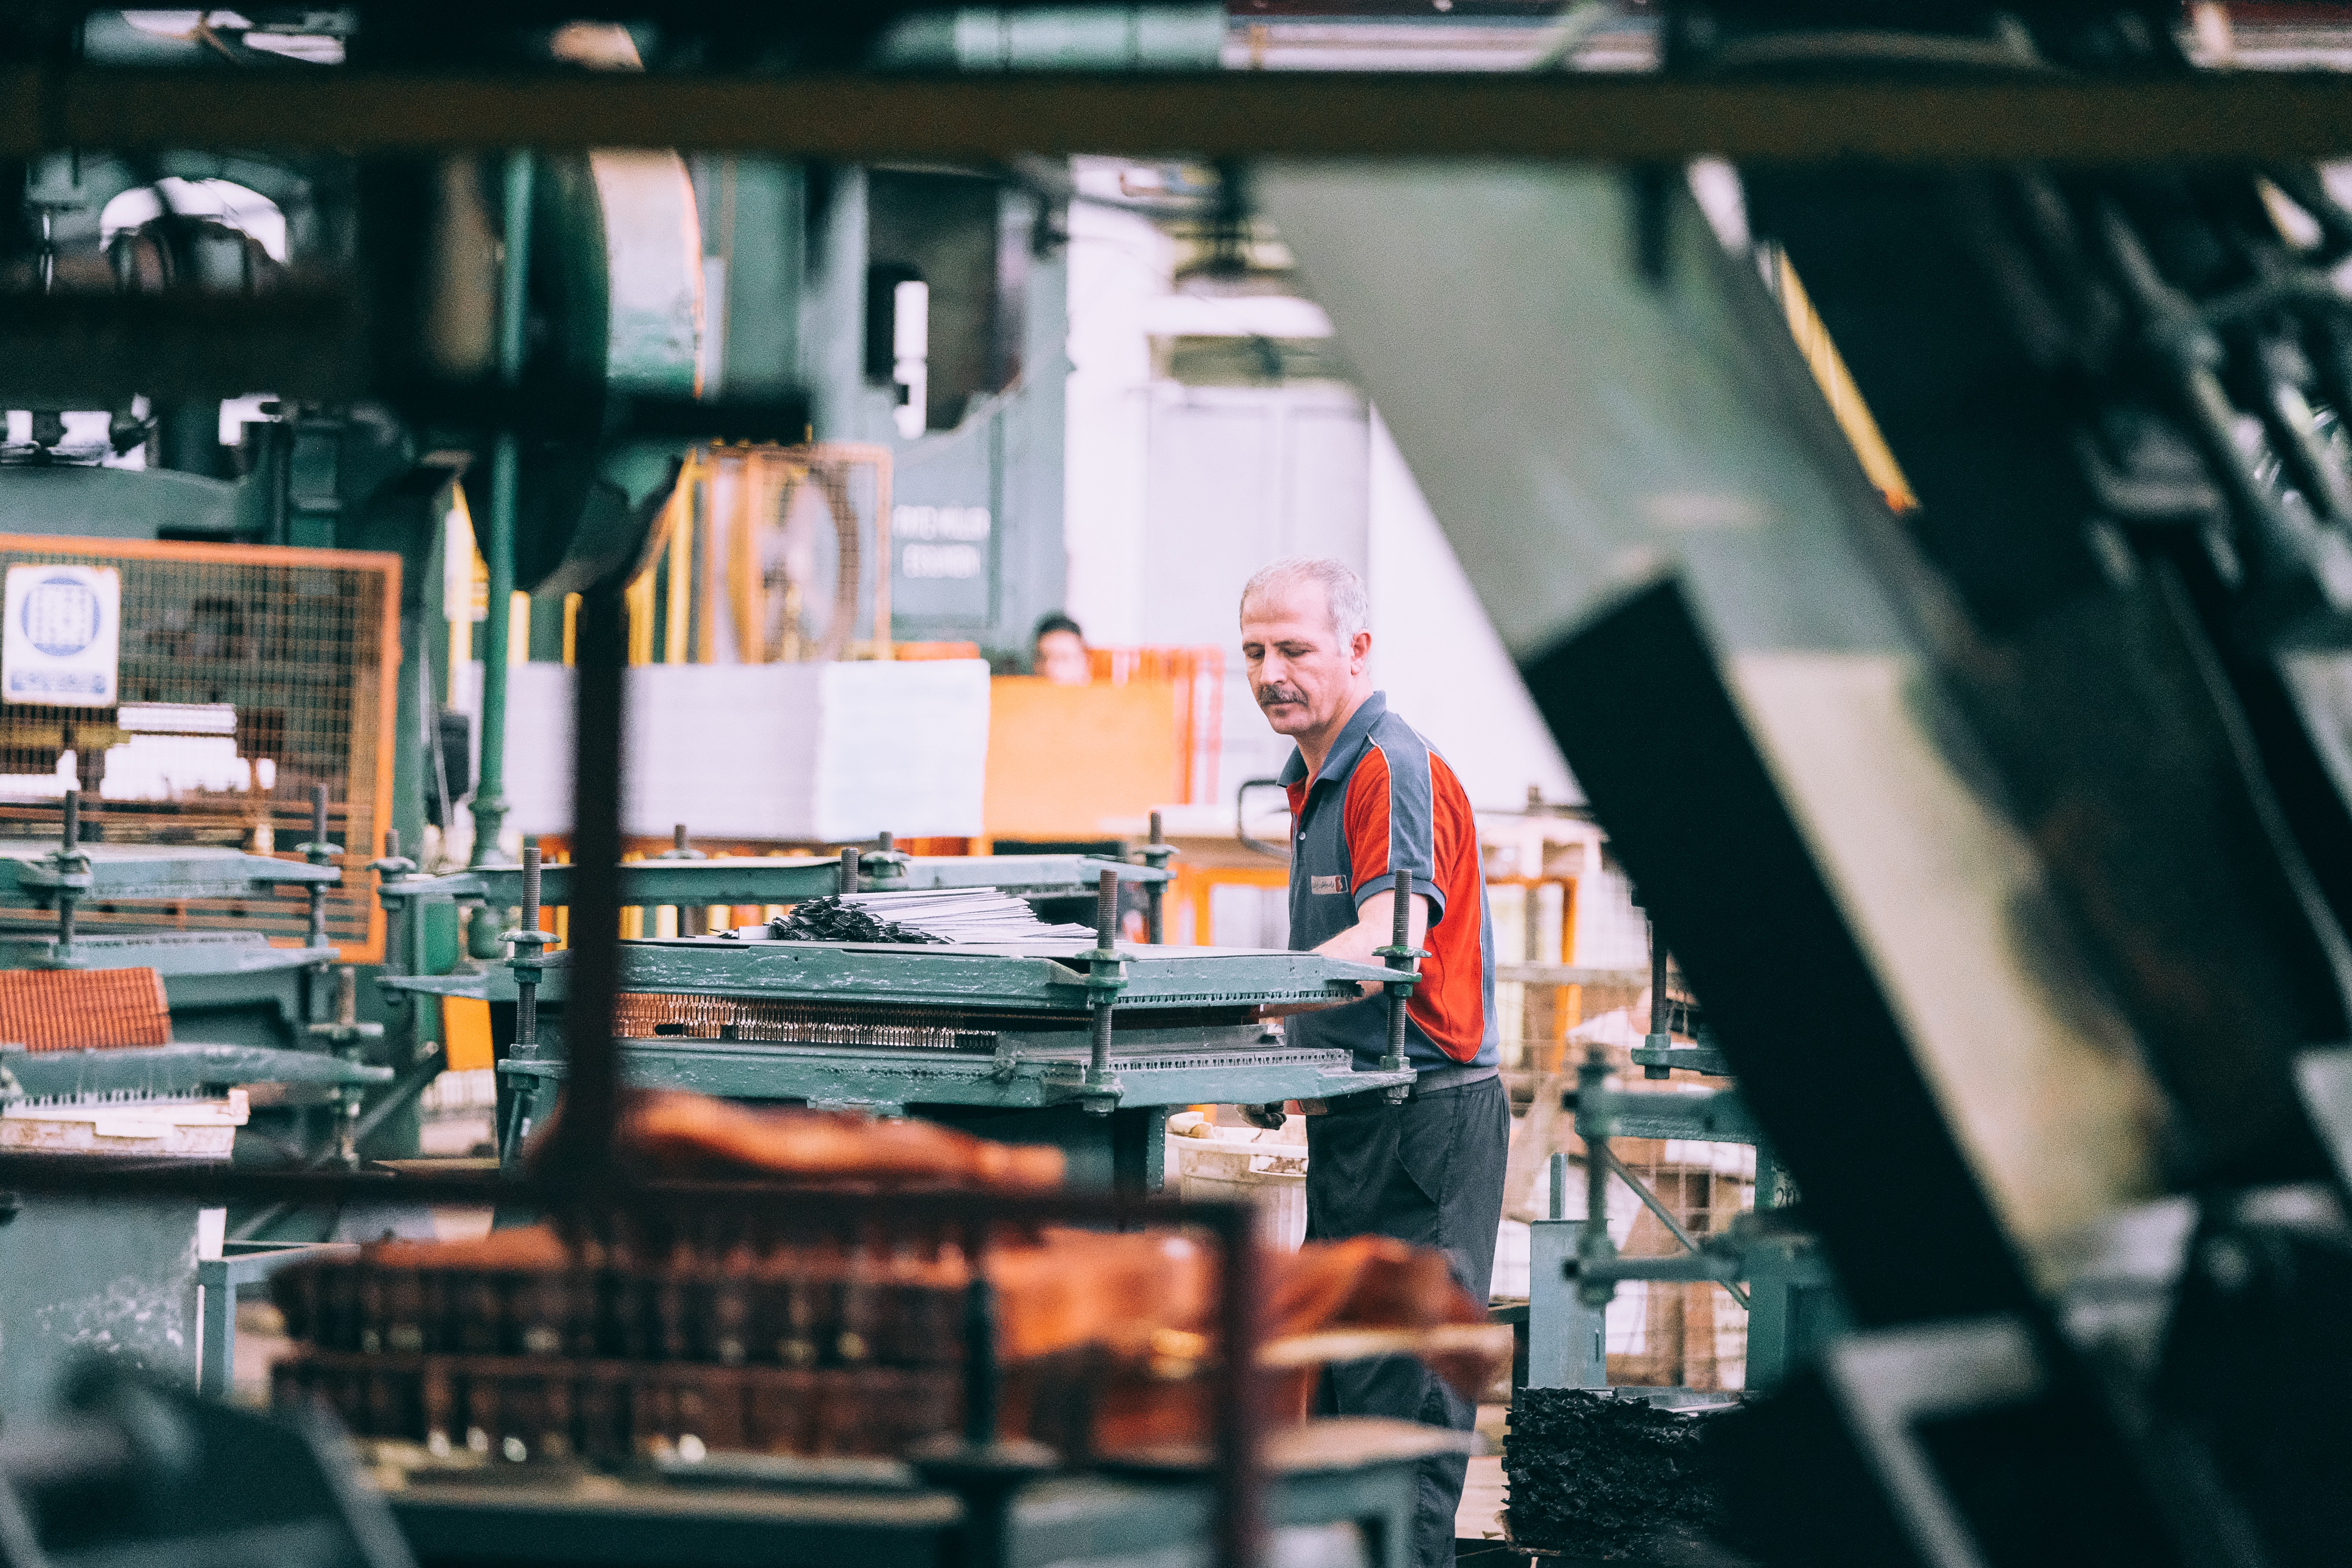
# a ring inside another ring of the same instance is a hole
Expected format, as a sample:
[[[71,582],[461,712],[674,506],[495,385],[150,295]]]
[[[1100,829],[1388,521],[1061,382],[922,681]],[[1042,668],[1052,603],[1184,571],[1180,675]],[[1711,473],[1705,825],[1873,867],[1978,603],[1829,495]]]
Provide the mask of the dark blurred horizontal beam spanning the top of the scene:
[[[2352,155],[2352,75],[1689,82],[1653,75],[459,75],[0,71],[0,155],[64,148],[666,146],[1745,162],[2246,162]]]

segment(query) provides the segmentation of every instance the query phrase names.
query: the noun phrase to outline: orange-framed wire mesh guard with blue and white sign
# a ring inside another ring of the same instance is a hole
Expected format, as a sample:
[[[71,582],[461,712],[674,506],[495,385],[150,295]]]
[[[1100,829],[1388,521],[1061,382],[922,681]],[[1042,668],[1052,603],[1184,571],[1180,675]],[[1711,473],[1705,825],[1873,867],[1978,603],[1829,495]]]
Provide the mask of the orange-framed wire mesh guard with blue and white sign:
[[[223,844],[299,860],[310,788],[327,785],[327,837],[346,849],[327,898],[327,940],[348,961],[383,954],[383,922],[365,867],[390,825],[393,675],[400,557],[353,550],[56,541],[0,536],[0,567],[80,562],[122,574],[122,703],[226,703],[252,788],[158,790],[108,708],[0,703],[0,776],[54,776],[75,752],[82,835],[103,844]],[[263,766],[266,764],[266,766]],[[108,790],[108,769],[115,790]],[[266,783],[263,783],[263,776]],[[0,837],[54,839],[59,804],[0,780]],[[134,799],[129,795],[148,795]],[[167,795],[155,799],[153,795]],[[85,929],[259,931],[301,945],[299,891],[181,903],[85,903]],[[0,910],[0,926],[47,924]]]

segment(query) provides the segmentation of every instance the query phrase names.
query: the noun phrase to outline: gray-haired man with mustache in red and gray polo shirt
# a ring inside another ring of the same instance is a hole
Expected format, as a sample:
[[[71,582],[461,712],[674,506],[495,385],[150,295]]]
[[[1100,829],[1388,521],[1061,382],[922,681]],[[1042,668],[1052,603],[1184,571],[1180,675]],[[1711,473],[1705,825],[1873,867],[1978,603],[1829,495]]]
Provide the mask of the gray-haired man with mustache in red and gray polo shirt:
[[[1461,780],[1371,689],[1364,583],[1331,559],[1291,557],[1242,590],[1249,689],[1277,733],[1298,743],[1282,773],[1291,792],[1291,947],[1378,964],[1395,936],[1399,879],[1414,947],[1425,947],[1406,1009],[1411,1098],[1331,1100],[1308,1121],[1308,1237],[1397,1237],[1435,1246],[1472,1300],[1494,1279],[1503,1220],[1510,1100],[1498,1074],[1494,936],[1477,825]],[[1371,987],[1378,990],[1378,987]],[[1341,1046],[1357,1067],[1388,1051],[1388,1001],[1298,1013],[1291,1044]],[[1322,1389],[1334,1415],[1392,1415],[1458,1432],[1477,1406],[1418,1361],[1388,1356],[1334,1366]],[[1421,1465],[1416,1568],[1454,1561],[1454,1509],[1465,1455]]]

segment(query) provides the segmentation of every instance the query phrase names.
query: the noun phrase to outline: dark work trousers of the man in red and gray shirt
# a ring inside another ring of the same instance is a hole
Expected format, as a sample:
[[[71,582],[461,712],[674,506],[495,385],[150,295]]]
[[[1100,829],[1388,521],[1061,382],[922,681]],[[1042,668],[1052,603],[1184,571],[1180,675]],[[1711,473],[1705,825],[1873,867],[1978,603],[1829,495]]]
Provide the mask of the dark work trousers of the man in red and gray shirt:
[[[1484,1305],[1508,1154],[1510,1095],[1498,1077],[1404,1105],[1381,1091],[1331,1100],[1329,1114],[1308,1117],[1308,1241],[1395,1237],[1435,1246],[1470,1300]],[[1343,1361],[1324,1373],[1317,1403],[1324,1415],[1392,1415],[1456,1432],[1477,1425],[1477,1403],[1411,1356]],[[1454,1561],[1454,1509],[1468,1472],[1461,1453],[1421,1460],[1414,1568]]]

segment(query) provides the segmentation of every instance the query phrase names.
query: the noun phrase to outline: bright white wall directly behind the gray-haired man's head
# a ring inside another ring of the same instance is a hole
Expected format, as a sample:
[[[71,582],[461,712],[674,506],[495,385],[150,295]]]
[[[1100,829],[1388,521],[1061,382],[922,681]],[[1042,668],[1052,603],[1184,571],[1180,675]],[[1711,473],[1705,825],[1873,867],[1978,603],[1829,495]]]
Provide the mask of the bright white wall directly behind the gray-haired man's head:
[[[1117,188],[1082,160],[1080,188]],[[1319,336],[1298,299],[1174,292],[1174,244],[1145,219],[1070,205],[1068,604],[1096,644],[1218,644],[1228,656],[1225,802],[1289,743],[1240,672],[1235,597],[1277,555],[1336,555],[1371,590],[1374,670],[1479,809],[1529,785],[1576,799],[1494,625],[1404,458],[1341,383],[1188,388],[1152,381],[1155,334]]]

